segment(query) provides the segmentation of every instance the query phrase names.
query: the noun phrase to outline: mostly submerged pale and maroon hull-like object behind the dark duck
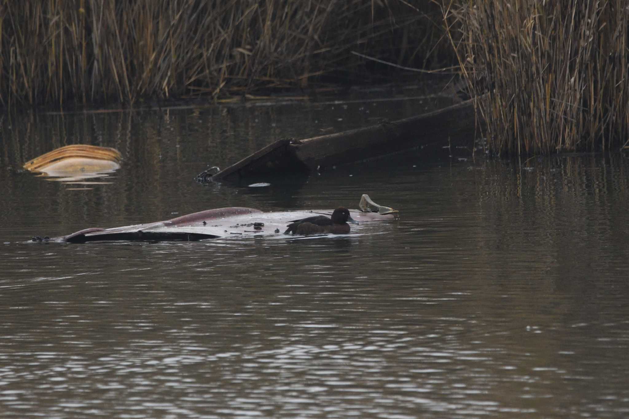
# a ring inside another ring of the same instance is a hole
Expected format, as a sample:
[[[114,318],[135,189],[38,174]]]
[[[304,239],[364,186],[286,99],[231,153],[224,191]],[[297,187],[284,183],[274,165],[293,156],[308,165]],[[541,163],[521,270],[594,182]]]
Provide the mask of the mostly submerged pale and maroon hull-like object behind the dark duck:
[[[51,241],[86,243],[95,241],[200,241],[221,237],[283,234],[292,220],[312,215],[331,215],[332,210],[303,210],[263,212],[246,207],[210,209],[182,215],[170,220],[134,226],[92,227],[53,237]],[[399,218],[399,211],[376,204],[369,195],[360,197],[359,209],[350,210],[351,217],[360,222]],[[33,241],[42,241],[33,237]]]

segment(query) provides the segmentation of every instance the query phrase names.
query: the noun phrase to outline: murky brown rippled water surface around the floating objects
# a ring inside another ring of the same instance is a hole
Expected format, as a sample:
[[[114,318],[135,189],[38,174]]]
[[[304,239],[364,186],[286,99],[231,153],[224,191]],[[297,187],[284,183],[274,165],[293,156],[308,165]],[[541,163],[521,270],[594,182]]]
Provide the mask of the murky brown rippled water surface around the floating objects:
[[[522,168],[413,151],[263,188],[192,180],[419,100],[4,119],[0,416],[628,416],[625,158]],[[15,170],[79,142],[123,153],[112,183]],[[356,207],[362,193],[401,220],[308,239],[25,242],[230,205]]]

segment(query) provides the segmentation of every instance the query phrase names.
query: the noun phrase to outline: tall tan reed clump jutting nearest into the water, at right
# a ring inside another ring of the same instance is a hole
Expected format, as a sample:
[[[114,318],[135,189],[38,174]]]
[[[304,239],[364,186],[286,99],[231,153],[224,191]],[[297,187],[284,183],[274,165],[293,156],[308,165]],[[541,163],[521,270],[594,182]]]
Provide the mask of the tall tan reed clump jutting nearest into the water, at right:
[[[629,140],[626,0],[446,0],[443,13],[493,151]]]

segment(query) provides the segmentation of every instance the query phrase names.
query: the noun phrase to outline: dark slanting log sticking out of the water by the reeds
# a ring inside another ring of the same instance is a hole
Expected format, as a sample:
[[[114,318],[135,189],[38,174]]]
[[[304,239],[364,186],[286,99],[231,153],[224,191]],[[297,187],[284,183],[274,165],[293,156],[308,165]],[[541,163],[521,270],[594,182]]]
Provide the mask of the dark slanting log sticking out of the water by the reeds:
[[[369,160],[413,147],[470,145],[476,133],[472,100],[438,111],[376,126],[308,139],[280,139],[212,175],[198,180],[238,180],[257,175],[279,175],[323,170]]]

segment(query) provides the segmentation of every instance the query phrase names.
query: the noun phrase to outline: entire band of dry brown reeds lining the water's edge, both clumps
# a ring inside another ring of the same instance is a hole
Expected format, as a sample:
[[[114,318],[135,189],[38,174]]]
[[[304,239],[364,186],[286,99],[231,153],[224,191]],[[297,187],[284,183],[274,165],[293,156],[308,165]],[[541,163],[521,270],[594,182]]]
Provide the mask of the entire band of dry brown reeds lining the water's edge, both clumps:
[[[626,0],[0,3],[8,110],[317,94],[452,67],[496,154],[629,141]]]

